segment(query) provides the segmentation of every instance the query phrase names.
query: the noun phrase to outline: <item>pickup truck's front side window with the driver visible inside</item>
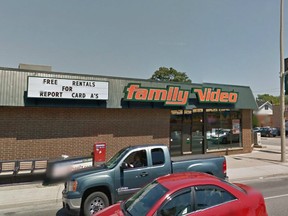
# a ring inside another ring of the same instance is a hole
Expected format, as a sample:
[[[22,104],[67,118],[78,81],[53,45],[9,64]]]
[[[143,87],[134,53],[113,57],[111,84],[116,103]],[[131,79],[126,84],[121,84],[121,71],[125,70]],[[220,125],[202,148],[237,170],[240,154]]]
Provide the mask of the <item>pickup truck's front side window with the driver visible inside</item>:
[[[124,161],[127,164],[127,168],[137,168],[147,166],[147,154],[146,150],[140,150],[132,152]]]

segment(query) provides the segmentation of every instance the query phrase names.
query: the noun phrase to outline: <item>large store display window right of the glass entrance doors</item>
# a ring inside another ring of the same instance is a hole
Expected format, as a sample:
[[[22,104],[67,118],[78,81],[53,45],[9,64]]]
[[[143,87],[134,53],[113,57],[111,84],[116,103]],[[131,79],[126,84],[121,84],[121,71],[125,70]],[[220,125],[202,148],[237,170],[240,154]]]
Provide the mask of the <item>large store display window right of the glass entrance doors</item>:
[[[206,109],[207,149],[241,146],[241,113],[230,109]]]

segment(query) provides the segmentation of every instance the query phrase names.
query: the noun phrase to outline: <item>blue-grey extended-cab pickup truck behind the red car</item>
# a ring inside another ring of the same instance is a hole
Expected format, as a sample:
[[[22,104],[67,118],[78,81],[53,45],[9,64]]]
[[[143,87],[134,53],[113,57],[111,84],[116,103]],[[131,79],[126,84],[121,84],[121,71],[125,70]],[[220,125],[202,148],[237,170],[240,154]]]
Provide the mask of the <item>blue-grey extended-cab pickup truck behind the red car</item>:
[[[170,158],[166,145],[126,147],[98,167],[73,172],[62,192],[63,207],[92,215],[125,200],[153,179],[170,173],[197,171],[226,179],[224,156],[189,155]]]

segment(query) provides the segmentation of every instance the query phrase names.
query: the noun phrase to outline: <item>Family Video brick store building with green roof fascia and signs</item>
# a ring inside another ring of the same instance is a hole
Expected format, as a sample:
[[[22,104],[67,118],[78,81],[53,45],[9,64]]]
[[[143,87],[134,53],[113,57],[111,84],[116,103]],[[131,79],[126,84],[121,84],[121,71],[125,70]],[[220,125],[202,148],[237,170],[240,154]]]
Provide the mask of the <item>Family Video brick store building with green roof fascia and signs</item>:
[[[247,86],[0,68],[0,160],[87,156],[96,142],[107,158],[155,143],[172,155],[250,152],[254,109]]]

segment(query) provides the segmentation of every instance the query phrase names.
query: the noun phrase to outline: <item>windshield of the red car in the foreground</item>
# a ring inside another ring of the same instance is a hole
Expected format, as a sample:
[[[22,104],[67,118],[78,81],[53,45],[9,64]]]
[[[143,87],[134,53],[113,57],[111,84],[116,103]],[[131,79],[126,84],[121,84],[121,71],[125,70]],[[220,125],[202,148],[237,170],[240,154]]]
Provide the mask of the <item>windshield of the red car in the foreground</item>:
[[[154,181],[128,199],[124,209],[130,215],[146,215],[167,191],[167,188]]]

